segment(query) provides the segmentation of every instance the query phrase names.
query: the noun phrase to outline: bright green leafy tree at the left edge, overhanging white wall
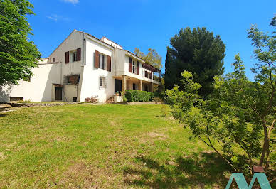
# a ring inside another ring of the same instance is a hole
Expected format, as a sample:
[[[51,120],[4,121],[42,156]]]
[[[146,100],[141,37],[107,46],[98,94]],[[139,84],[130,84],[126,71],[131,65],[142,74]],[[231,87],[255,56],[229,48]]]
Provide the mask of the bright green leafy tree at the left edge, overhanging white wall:
[[[17,85],[31,77],[31,68],[41,58],[36,45],[28,41],[31,28],[26,20],[33,5],[26,0],[0,1],[0,85]]]

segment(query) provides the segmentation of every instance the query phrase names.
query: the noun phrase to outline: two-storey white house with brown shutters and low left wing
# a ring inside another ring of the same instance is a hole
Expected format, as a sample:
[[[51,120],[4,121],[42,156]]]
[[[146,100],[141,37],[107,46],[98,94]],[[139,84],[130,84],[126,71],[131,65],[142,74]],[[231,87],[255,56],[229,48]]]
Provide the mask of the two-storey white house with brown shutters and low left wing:
[[[29,81],[1,86],[0,102],[18,99],[85,102],[91,96],[105,102],[117,91],[152,92],[154,85],[160,85],[160,72],[105,37],[99,39],[74,30],[33,68],[34,75]]]

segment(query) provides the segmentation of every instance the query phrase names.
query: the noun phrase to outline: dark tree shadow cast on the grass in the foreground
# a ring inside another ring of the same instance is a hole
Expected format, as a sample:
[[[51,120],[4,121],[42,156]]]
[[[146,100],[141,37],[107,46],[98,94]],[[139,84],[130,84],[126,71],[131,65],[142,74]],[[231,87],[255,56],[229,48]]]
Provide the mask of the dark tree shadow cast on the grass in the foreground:
[[[136,157],[135,168],[124,168],[124,183],[150,188],[225,188],[231,173],[230,166],[216,153],[194,154],[193,157],[176,157],[174,162],[160,164],[147,157]]]

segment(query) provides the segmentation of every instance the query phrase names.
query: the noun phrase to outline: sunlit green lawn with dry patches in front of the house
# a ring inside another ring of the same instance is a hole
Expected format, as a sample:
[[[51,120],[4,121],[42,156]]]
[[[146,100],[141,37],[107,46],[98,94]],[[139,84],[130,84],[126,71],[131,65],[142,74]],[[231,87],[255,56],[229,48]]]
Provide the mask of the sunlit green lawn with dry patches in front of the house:
[[[161,105],[0,113],[0,188],[225,188],[229,167]]]

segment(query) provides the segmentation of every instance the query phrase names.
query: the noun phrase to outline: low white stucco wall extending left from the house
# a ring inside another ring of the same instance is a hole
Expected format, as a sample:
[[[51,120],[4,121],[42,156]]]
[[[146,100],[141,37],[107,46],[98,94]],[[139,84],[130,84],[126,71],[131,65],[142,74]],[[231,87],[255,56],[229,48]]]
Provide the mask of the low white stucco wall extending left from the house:
[[[0,87],[0,102],[8,102],[9,97],[23,97],[31,102],[51,101],[52,84],[60,83],[60,63],[43,63],[33,68],[31,82],[19,81],[19,85]]]

